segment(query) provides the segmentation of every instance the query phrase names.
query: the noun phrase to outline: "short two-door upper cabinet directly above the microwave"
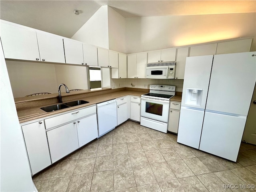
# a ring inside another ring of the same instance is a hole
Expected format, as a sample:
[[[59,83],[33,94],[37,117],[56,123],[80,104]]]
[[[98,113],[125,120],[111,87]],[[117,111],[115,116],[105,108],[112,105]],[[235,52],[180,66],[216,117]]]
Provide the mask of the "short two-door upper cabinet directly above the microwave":
[[[176,60],[176,48],[148,52],[148,63],[172,62]]]

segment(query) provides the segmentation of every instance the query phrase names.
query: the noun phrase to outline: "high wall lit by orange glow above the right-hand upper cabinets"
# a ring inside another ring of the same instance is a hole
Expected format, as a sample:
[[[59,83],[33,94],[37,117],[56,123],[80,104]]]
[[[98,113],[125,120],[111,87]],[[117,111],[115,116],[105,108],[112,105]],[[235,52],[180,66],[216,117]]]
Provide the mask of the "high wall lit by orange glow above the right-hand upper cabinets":
[[[256,13],[125,18],[126,53],[254,37]]]

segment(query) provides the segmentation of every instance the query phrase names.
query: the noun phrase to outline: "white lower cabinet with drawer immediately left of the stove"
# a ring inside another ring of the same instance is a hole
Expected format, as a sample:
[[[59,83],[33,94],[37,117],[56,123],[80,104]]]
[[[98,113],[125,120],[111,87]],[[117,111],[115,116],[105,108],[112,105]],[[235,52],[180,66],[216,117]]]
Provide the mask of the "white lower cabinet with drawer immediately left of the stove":
[[[140,122],[140,97],[130,96],[130,119]]]

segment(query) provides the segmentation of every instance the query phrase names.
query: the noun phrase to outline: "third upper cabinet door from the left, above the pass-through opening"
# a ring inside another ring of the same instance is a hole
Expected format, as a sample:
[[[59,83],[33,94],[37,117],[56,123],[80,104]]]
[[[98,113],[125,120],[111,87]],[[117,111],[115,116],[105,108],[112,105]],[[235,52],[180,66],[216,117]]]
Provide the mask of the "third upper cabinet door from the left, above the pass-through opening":
[[[63,39],[66,63],[84,64],[83,44],[70,39]]]

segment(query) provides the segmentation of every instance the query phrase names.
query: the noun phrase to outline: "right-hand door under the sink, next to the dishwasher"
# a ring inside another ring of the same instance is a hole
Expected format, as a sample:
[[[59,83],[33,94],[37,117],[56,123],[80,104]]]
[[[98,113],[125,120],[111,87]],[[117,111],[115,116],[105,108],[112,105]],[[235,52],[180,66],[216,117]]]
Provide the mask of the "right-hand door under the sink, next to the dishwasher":
[[[77,121],[79,147],[98,137],[97,115],[91,115]]]

